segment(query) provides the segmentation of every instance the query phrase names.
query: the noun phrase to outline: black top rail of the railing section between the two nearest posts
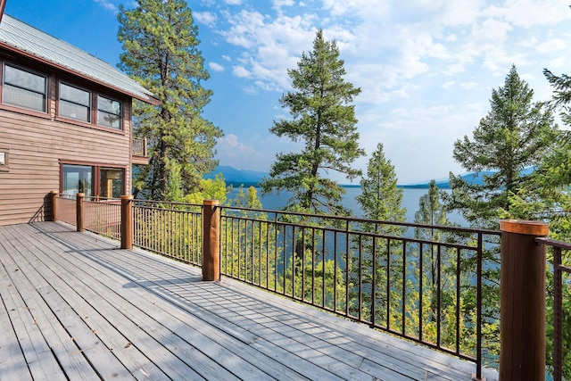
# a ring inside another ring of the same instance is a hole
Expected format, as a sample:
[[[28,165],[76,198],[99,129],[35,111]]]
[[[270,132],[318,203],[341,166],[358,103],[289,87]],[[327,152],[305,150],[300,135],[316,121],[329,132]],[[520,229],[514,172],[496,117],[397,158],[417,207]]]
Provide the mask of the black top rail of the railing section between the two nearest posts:
[[[283,214],[288,216],[300,216],[306,218],[318,218],[318,219],[333,219],[333,220],[343,220],[349,222],[360,222],[360,223],[376,223],[383,225],[399,226],[405,228],[437,228],[440,230],[454,231],[459,233],[474,233],[474,234],[486,234],[491,236],[500,236],[501,232],[499,230],[489,230],[489,229],[478,229],[478,228],[462,228],[453,226],[440,226],[440,225],[427,225],[427,224],[416,224],[412,222],[398,222],[398,221],[385,221],[379,219],[363,219],[357,217],[345,217],[345,216],[332,216],[327,214],[311,214],[311,213],[299,213],[294,211],[275,211],[269,209],[253,209],[238,206],[227,206],[219,205],[222,210],[235,210],[235,211],[257,211],[269,214]],[[299,224],[298,224],[299,225]]]

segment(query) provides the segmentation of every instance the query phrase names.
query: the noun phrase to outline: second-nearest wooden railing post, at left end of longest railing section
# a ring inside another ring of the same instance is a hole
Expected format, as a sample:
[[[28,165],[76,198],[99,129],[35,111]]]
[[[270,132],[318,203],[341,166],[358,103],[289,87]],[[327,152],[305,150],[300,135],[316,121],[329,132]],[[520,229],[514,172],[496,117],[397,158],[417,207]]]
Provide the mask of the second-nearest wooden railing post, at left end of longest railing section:
[[[203,202],[203,280],[220,280],[218,200]]]

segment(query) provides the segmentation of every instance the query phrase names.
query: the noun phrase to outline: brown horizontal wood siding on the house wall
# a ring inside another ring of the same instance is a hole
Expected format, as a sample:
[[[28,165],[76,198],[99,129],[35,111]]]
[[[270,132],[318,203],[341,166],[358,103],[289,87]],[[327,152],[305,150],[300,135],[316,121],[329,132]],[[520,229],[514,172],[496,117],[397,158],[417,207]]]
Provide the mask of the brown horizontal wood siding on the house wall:
[[[0,171],[0,226],[49,219],[46,197],[60,190],[62,162],[123,168],[130,193],[131,99],[121,99],[124,131],[90,128],[55,120],[57,81],[49,86],[46,118],[0,105],[0,147],[10,152],[8,170]]]

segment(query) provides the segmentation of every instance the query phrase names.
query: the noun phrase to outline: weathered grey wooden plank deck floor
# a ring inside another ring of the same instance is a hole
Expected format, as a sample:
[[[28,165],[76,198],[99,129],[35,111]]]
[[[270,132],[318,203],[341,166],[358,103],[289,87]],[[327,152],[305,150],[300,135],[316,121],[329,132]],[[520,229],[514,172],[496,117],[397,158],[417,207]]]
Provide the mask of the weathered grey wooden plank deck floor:
[[[0,227],[0,379],[470,380],[475,365],[54,222]],[[487,379],[498,374],[485,370]]]

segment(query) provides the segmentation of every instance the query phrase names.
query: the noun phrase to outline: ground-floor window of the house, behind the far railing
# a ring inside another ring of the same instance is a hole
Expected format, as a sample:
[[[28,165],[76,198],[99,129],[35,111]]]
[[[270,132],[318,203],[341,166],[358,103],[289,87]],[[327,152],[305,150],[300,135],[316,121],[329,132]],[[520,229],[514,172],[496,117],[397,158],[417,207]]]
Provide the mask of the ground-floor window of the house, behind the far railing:
[[[125,191],[125,170],[91,165],[62,165],[62,194],[75,197],[120,198]]]

